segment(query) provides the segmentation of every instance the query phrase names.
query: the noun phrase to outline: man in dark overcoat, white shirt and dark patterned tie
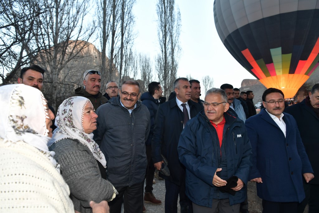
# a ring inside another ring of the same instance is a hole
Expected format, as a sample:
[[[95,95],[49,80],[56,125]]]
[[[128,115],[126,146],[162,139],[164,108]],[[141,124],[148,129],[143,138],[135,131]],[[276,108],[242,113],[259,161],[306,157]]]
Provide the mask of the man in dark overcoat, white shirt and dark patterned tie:
[[[165,179],[165,212],[177,213],[178,194],[180,195],[181,212],[187,212],[191,203],[185,195],[185,167],[178,159],[177,144],[184,123],[193,118],[201,110],[197,103],[190,100],[190,83],[187,78],[179,78],[174,82],[176,97],[159,105],[155,118],[152,139],[152,160],[160,170],[163,158],[168,161],[170,176],[159,175]],[[185,116],[184,116],[185,115]]]

